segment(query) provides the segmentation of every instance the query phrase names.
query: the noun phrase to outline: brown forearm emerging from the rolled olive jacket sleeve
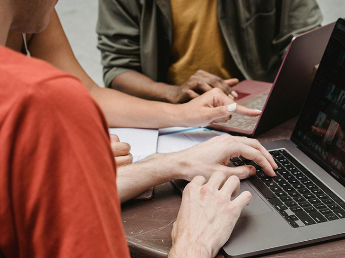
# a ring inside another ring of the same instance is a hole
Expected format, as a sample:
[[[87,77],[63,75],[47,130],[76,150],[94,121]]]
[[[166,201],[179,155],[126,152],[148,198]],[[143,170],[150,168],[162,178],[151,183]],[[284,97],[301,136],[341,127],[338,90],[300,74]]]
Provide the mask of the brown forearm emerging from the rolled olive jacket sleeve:
[[[175,85],[156,82],[146,75],[132,70],[116,76],[112,81],[112,88],[148,100],[175,103]]]

